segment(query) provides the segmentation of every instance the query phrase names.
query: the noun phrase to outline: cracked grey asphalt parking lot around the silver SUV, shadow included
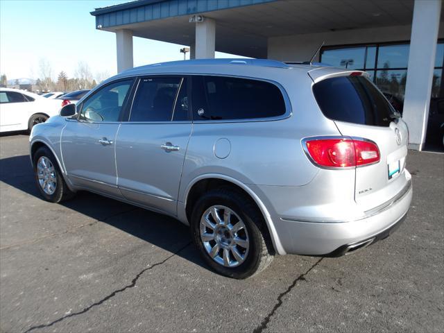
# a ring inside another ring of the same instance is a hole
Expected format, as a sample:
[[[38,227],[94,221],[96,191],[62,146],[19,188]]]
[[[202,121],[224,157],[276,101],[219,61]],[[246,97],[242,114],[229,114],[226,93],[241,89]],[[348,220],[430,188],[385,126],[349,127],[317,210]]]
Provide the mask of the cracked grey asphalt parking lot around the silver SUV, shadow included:
[[[210,271],[185,225],[89,193],[38,195],[26,135],[0,137],[0,332],[443,332],[444,155],[410,151],[413,201],[353,255]]]

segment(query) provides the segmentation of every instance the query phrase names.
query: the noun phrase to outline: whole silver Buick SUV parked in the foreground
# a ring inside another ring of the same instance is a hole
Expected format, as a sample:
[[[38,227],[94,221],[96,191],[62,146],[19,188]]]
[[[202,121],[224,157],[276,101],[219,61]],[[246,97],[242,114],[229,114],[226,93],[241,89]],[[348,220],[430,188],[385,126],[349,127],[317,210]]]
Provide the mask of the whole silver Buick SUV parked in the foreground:
[[[42,196],[86,189],[190,226],[232,278],[273,255],[339,256],[411,202],[407,126],[362,71],[191,60],[110,78],[33,128]]]

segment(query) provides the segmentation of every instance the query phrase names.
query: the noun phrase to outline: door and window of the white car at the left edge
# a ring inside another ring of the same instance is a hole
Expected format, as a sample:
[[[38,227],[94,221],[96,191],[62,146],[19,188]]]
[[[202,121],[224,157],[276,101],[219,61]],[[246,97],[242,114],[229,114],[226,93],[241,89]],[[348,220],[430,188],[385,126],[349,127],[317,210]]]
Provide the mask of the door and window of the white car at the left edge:
[[[28,128],[32,104],[19,92],[0,92],[0,131]]]

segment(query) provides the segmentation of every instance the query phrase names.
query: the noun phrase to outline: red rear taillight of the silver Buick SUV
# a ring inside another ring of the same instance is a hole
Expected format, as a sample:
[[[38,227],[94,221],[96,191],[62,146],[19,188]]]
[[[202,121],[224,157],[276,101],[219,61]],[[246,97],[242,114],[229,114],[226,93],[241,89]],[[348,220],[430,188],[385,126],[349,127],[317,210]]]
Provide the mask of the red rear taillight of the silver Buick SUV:
[[[349,137],[309,137],[302,140],[311,160],[320,167],[349,168],[379,162],[375,142]]]

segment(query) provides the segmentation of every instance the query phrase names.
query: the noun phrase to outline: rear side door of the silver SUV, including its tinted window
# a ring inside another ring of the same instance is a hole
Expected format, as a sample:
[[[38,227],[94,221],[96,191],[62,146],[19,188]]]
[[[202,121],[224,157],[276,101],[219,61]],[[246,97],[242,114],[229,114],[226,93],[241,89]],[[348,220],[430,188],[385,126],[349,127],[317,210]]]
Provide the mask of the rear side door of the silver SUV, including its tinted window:
[[[192,128],[188,89],[188,78],[141,78],[128,121],[121,123],[116,140],[121,194],[173,215]]]

